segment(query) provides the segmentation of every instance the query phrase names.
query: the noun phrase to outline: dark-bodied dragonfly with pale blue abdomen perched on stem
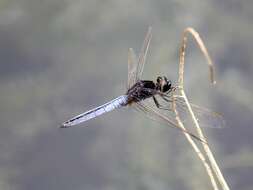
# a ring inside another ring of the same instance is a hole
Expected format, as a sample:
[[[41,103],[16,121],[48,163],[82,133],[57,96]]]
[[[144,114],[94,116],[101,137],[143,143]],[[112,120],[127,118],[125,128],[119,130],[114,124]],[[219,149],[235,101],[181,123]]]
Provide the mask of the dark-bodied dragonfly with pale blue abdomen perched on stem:
[[[182,110],[183,113],[186,113],[186,104],[180,97],[172,99],[173,92],[177,90],[177,87],[172,85],[171,80],[168,80],[165,76],[158,76],[155,82],[141,79],[151,38],[152,28],[149,27],[138,59],[134,50],[132,48],[129,49],[128,82],[126,93],[101,106],[65,121],[62,123],[61,128],[76,126],[117,108],[131,106],[135,108],[135,110],[141,111],[153,120],[165,123],[170,127],[176,128],[184,133],[189,134],[193,138],[202,141],[202,139],[200,139],[198,136],[187,131],[186,129],[179,127],[176,124],[177,122],[173,116],[173,110],[171,108],[172,101],[176,102],[179,110]],[[152,101],[146,101],[150,99]],[[217,120],[217,118],[218,120],[221,119],[215,112],[201,108],[197,105],[192,104],[192,106],[198,115],[207,116],[207,118],[211,118],[211,121],[213,121],[214,118],[215,120]]]

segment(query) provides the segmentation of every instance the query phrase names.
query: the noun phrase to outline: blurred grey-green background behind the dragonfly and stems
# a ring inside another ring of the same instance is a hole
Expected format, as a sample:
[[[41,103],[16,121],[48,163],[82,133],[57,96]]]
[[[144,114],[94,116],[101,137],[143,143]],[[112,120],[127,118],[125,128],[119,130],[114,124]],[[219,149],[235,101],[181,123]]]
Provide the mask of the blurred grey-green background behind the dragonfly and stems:
[[[190,39],[189,99],[223,114],[205,129],[231,189],[253,187],[253,1],[1,0],[0,189],[212,189],[177,130],[125,108],[62,130],[70,117],[125,93],[127,53],[153,38],[145,79],[177,83],[185,27],[204,40],[216,68]]]

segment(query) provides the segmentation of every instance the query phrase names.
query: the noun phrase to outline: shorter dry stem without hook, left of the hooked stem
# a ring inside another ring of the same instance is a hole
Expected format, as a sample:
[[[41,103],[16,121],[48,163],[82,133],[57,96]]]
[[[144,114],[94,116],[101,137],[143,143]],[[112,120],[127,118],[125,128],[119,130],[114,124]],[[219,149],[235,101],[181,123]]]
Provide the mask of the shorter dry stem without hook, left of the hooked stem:
[[[174,98],[174,96],[172,97]],[[176,115],[176,120],[177,120],[177,123],[179,125],[179,127],[183,128],[184,130],[186,130],[186,128],[184,127],[184,124],[183,122],[181,121],[180,117],[179,117],[179,114],[178,114],[178,111],[176,109],[176,104],[175,104],[175,100],[173,99],[172,101],[172,109],[174,110],[175,112],[175,115]],[[187,134],[187,133],[184,133],[186,139],[189,141],[189,143],[191,144],[191,146],[193,147],[194,151],[197,153],[197,155],[199,156],[199,159],[202,161],[202,163],[204,164],[204,167],[206,168],[206,171],[207,171],[207,174],[211,180],[211,183],[213,185],[213,189],[214,190],[218,190],[218,187],[217,187],[217,183],[215,181],[215,178],[213,176],[213,172],[209,166],[209,164],[206,162],[206,159],[205,159],[205,156],[202,154],[202,152],[199,150],[198,146],[196,145],[196,143],[194,142],[194,140],[192,139],[192,137]]]

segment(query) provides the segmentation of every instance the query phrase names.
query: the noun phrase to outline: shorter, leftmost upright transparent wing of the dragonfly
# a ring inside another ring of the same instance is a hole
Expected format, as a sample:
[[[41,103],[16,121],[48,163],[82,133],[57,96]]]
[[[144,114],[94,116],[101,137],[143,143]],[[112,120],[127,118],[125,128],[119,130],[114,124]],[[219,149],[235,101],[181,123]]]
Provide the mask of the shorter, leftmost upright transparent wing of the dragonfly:
[[[137,58],[134,50],[129,48],[128,50],[128,81],[127,88],[131,88],[136,81],[136,72],[137,72]]]

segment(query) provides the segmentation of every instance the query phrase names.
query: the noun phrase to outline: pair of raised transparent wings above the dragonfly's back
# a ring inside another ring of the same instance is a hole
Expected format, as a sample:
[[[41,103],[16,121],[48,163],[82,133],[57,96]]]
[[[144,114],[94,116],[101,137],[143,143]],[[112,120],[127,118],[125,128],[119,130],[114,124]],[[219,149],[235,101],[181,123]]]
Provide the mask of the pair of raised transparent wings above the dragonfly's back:
[[[131,86],[133,86],[138,80],[140,80],[146,62],[146,56],[151,37],[152,37],[151,27],[149,27],[141,48],[141,52],[139,54],[138,61],[134,53],[134,50],[130,48],[128,51],[128,83],[127,83],[128,89]]]

